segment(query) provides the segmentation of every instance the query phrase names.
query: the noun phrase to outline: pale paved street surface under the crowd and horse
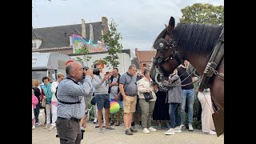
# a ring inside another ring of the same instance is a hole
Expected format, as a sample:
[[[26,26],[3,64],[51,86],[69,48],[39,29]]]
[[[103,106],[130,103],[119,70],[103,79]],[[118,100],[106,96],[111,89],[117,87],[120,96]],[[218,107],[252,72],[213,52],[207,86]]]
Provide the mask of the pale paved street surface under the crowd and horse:
[[[39,116],[39,121],[44,122],[44,115],[42,113]],[[104,134],[98,133],[98,128],[94,128],[96,124],[89,122],[87,123],[87,130],[84,133],[84,139],[82,144],[113,144],[113,143],[132,143],[132,144],[150,144],[150,143],[181,143],[181,144],[222,144],[224,143],[224,135],[220,137],[216,135],[202,134],[201,130],[194,130],[190,132],[188,130],[182,130],[180,134],[165,135],[167,129],[157,130],[150,134],[142,133],[142,129],[138,129],[138,133],[134,135],[124,134],[123,124],[120,126],[113,126],[115,130],[105,130]],[[59,138],[55,138],[56,130],[49,131],[44,126],[37,126],[35,130],[32,130],[32,143],[33,144],[54,144],[59,143]]]

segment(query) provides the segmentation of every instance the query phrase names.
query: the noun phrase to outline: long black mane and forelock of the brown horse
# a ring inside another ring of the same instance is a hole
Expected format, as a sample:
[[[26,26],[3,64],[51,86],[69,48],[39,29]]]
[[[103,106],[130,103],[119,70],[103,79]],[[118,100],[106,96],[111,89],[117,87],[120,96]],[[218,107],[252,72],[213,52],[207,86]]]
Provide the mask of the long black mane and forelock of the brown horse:
[[[162,30],[162,33],[164,31],[166,29]],[[190,54],[195,54],[213,50],[221,32],[222,26],[179,23],[171,35],[174,41],[178,42],[178,50],[185,50]],[[160,37],[160,34],[158,37]]]

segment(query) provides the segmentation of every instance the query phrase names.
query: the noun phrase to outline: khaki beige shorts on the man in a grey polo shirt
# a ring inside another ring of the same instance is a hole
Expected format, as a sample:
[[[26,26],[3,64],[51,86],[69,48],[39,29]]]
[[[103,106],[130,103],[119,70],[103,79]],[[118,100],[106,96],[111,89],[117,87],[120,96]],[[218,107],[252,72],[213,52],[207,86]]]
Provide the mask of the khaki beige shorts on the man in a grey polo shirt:
[[[123,112],[124,113],[134,113],[136,109],[138,96],[130,97],[127,96],[126,100],[123,100]]]

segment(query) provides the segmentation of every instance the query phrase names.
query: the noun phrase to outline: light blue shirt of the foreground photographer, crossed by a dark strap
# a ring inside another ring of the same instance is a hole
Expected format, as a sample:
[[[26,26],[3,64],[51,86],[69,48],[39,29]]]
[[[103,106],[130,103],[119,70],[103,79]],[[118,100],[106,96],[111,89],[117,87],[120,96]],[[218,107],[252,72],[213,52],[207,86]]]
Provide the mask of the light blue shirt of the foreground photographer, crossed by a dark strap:
[[[81,119],[84,116],[86,106],[83,97],[89,97],[90,92],[93,90],[91,80],[92,78],[89,75],[86,75],[83,84],[80,82],[76,84],[70,79],[63,79],[62,82],[58,84],[58,100],[62,102],[81,102],[75,104],[58,102],[58,117]]]

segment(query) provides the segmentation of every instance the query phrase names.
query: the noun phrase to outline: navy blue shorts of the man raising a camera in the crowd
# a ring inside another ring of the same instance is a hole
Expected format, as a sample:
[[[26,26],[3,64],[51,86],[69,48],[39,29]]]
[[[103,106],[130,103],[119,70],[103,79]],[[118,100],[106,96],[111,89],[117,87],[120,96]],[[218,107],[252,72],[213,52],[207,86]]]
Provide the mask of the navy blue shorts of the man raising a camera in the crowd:
[[[110,94],[95,94],[98,110],[110,109]]]

